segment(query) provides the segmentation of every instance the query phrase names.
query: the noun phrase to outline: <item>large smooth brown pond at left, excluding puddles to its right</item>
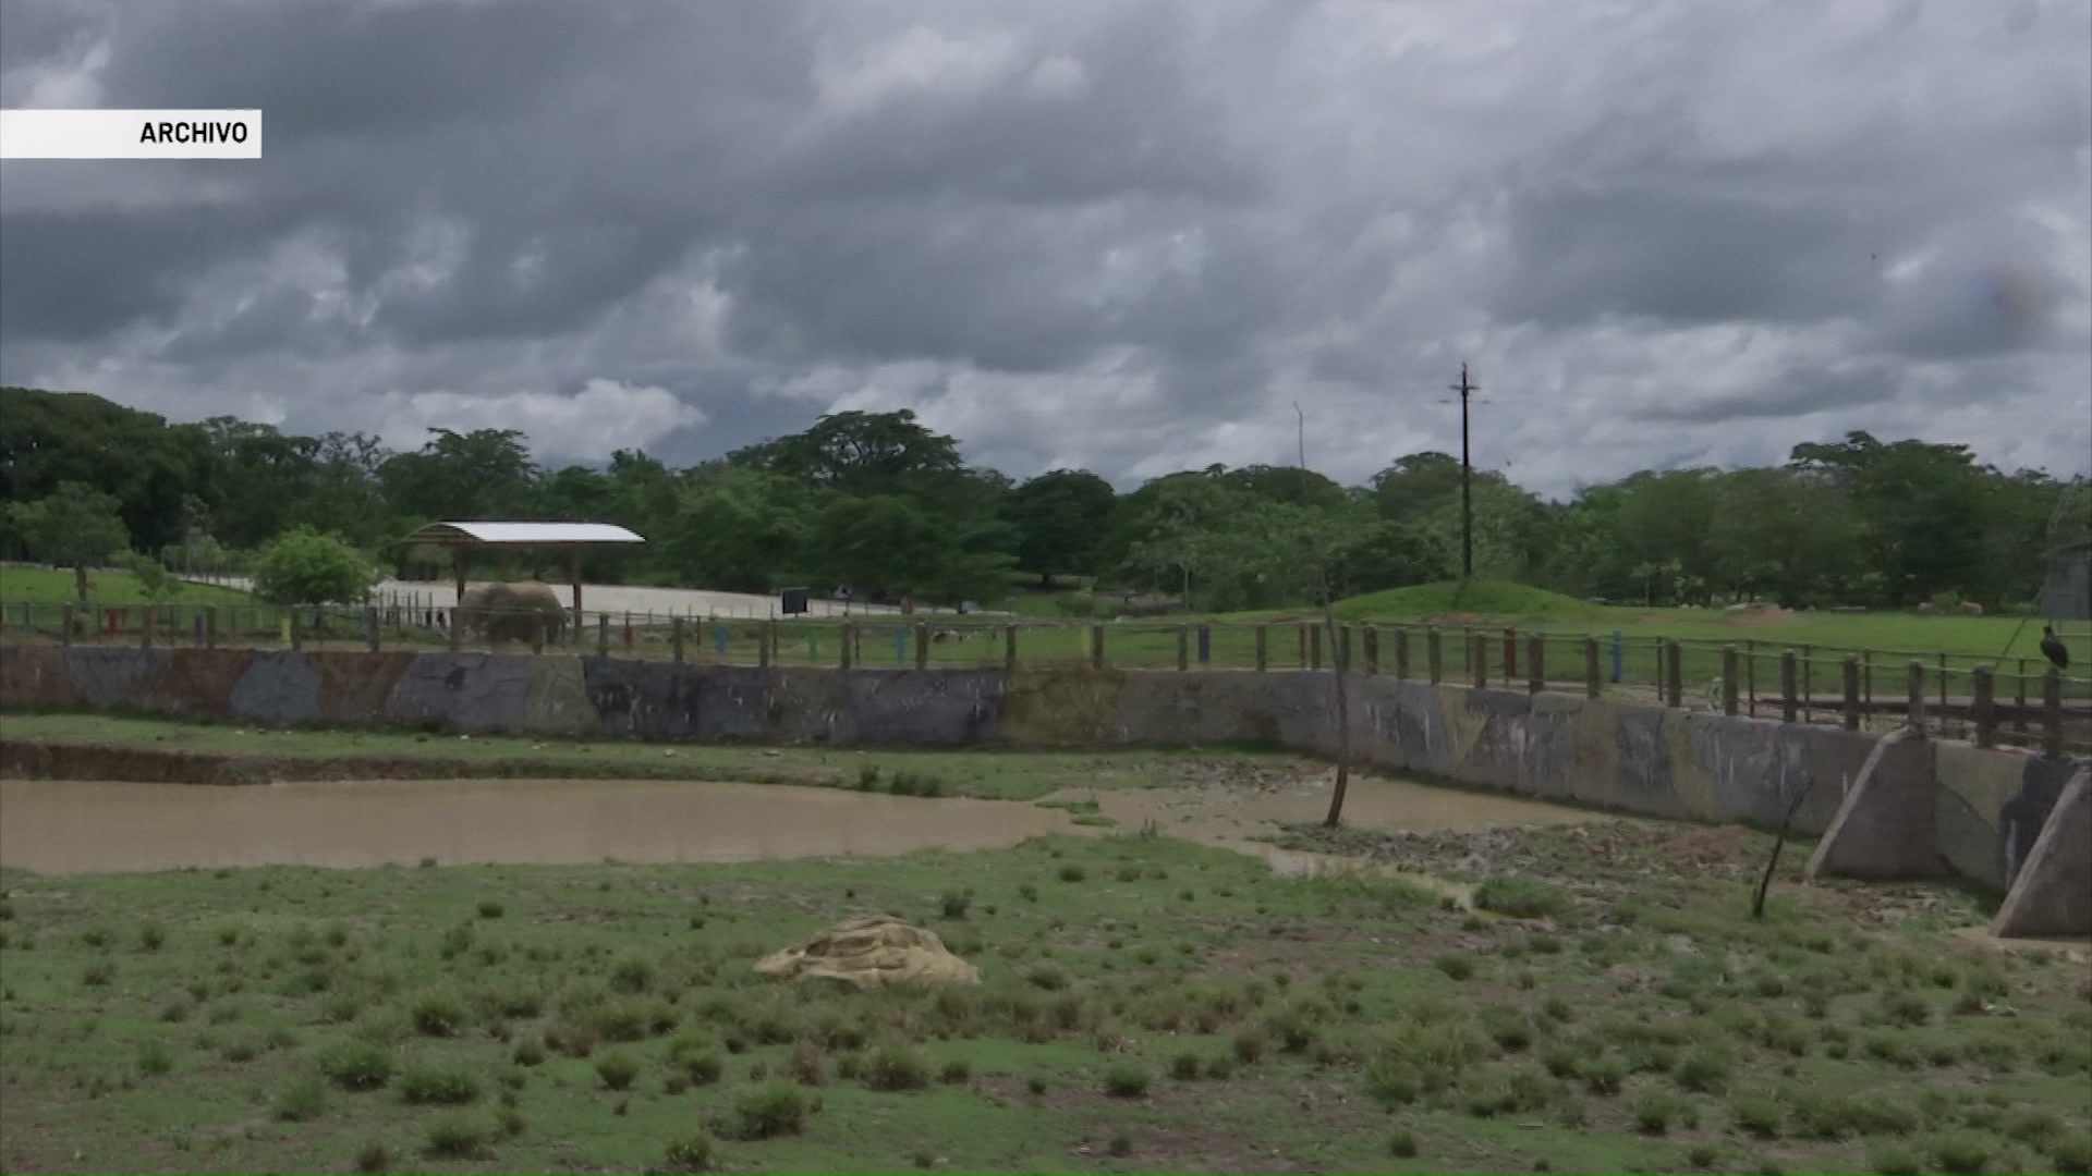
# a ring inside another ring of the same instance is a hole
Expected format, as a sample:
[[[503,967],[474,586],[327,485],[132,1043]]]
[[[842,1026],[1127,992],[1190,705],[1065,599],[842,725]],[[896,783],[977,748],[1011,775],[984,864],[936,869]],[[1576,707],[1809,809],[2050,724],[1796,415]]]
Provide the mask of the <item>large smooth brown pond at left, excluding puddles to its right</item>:
[[[178,866],[747,862],[996,850],[1067,829],[1029,804],[657,781],[197,787],[0,781],[0,864]]]

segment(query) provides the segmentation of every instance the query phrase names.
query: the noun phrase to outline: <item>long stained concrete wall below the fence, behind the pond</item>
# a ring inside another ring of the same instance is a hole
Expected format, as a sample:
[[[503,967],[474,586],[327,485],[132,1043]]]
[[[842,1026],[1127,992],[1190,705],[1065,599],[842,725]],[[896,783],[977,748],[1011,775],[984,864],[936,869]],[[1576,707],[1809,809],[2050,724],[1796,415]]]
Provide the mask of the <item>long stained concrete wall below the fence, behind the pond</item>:
[[[1328,672],[759,670],[571,655],[0,647],[0,709],[462,732],[948,747],[1261,741],[1331,753],[1333,705]],[[1364,674],[1349,707],[1354,753],[1377,768],[1692,820],[1776,824],[1799,801],[1799,833],[1845,824],[1822,862],[1830,873],[1908,868],[1854,862],[1883,837],[1916,837],[1925,858],[2000,889],[2031,860],[2079,768],[1966,743],[1885,749],[1883,737],[1770,718]]]

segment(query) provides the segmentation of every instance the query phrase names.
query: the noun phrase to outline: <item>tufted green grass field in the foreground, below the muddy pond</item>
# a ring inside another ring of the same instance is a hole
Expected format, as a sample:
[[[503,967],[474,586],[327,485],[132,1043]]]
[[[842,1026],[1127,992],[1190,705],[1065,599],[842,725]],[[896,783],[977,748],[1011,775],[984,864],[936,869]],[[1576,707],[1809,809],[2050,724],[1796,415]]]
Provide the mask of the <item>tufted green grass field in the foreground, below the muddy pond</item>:
[[[734,866],[6,870],[0,1159],[86,1174],[146,1155],[169,1176],[356,1172],[366,1155],[632,1176],[2079,1161],[2082,967],[1952,935],[1979,921],[1958,891],[1803,889],[1793,862],[1753,921],[1768,839],[1738,831],[1728,858],[1680,875],[1676,835],[1377,845],[1431,870],[1487,845],[1548,887],[1498,887],[1550,910],[1544,931],[1134,835]],[[977,898],[964,921],[941,921],[952,891]],[[483,919],[494,896],[504,914]],[[789,990],[749,967],[860,912],[937,927],[983,983]],[[163,931],[157,950],[140,925]],[[1475,967],[1456,979],[1443,958]],[[111,981],[82,983],[96,967]],[[1544,981],[1521,983],[1527,969]],[[2017,1017],[1952,1011],[1996,981]],[[1912,998],[1923,1023],[1900,1013]],[[169,1000],[195,1011],[167,1019]],[[1941,1038],[2010,1048],[1891,1061]],[[1868,1040],[1900,1048],[1835,1048]]]

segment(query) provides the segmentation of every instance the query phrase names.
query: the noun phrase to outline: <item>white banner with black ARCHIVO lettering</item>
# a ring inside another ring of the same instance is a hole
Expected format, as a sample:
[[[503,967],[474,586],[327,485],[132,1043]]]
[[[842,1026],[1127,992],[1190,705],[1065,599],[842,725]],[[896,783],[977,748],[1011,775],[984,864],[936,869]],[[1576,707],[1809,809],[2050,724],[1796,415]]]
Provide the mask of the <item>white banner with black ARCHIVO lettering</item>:
[[[262,159],[262,111],[0,111],[0,159]]]

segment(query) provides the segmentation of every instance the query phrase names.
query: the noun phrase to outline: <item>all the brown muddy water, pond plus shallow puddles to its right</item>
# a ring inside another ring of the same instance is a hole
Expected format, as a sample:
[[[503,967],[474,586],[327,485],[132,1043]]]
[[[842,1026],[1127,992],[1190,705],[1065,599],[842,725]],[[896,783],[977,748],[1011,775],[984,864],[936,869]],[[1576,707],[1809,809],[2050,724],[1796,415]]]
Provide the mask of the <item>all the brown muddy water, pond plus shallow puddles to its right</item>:
[[[1073,789],[1117,831],[1161,833],[1264,858],[1284,875],[1383,866],[1278,850],[1278,822],[1320,820],[1328,781]],[[1345,820],[1362,829],[1550,824],[1592,814],[1517,797],[1356,778]],[[180,866],[377,866],[749,862],[1000,850],[1077,827],[1023,801],[889,797],[843,789],[678,781],[354,781],[144,785],[0,781],[0,864],[48,875]],[[1452,883],[1414,879],[1464,902]]]

